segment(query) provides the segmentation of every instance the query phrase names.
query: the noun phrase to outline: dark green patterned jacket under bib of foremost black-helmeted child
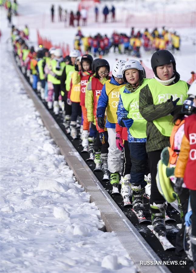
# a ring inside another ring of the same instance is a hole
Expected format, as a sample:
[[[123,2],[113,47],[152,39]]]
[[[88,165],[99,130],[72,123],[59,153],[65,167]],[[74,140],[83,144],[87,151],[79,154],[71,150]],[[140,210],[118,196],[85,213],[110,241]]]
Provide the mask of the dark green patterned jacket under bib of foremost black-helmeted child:
[[[176,72],[176,78],[173,84],[177,83],[179,80],[180,75]],[[190,86],[189,84],[187,85],[188,87]],[[165,88],[167,88],[167,86],[165,86]],[[173,94],[175,94],[175,87]],[[153,121],[155,119],[159,119],[160,117],[167,116],[170,113],[175,115],[176,113],[180,112],[181,107],[182,105],[177,105],[174,107],[171,100],[166,100],[163,103],[154,105],[153,96],[148,84],[140,90],[139,110],[140,114],[144,117],[144,119],[147,120],[147,152],[162,150],[164,147],[169,146],[169,136],[164,136],[163,134],[161,134],[161,132],[154,125]]]

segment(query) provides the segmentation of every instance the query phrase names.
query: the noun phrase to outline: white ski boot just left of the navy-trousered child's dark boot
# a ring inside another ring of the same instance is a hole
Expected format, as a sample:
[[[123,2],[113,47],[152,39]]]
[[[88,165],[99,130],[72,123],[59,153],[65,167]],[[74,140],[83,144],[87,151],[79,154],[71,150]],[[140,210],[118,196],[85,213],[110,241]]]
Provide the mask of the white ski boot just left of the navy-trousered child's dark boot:
[[[123,197],[124,207],[130,207],[132,205],[130,202],[130,195],[131,195],[130,174],[126,174],[124,177],[121,177],[120,181],[121,181],[120,194]]]

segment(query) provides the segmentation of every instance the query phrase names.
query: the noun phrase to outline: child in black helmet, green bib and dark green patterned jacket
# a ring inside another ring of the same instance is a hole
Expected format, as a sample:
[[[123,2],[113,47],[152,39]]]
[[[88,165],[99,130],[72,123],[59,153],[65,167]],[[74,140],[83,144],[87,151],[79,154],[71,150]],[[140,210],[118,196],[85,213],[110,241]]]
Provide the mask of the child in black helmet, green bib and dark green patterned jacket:
[[[167,206],[157,189],[157,163],[162,149],[169,146],[169,136],[173,127],[171,113],[181,110],[182,103],[187,98],[188,85],[180,80],[174,56],[169,51],[155,52],[151,58],[151,66],[155,74],[154,79],[150,79],[140,91],[139,110],[147,120],[146,150],[151,174],[152,225],[154,231],[164,234]]]

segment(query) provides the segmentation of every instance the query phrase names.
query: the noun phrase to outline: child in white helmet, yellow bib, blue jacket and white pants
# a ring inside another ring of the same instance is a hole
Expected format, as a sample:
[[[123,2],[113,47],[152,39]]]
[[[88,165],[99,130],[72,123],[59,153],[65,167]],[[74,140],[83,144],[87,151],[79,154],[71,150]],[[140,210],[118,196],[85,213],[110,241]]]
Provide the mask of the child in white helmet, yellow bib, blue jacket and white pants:
[[[113,185],[113,193],[119,193],[119,171],[121,171],[120,160],[121,153],[116,146],[116,132],[115,127],[117,123],[117,106],[120,96],[120,88],[125,85],[123,81],[122,67],[125,63],[124,60],[118,60],[112,67],[112,78],[105,82],[101,95],[97,103],[97,124],[101,129],[107,128],[108,132],[108,155],[102,154],[102,158],[107,158],[108,170],[105,170],[104,174],[109,178],[110,183]],[[105,111],[107,108],[106,124],[104,121]],[[109,180],[109,179],[108,179]]]

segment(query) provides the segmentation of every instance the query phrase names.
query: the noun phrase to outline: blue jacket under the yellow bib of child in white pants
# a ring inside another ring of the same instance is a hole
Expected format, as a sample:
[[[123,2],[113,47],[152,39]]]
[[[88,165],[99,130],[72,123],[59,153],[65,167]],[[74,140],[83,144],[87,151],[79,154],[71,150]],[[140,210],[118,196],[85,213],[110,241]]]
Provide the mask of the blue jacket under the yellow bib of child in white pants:
[[[120,85],[119,83],[117,83],[113,77],[110,79],[110,84],[112,85],[111,87],[113,87],[113,86],[123,86],[123,84]],[[109,101],[108,101],[108,95],[109,95],[108,91],[109,90],[106,90],[106,83],[105,83],[102,90],[101,90],[101,95],[99,96],[99,100],[98,100],[98,103],[97,103],[97,112],[96,112],[97,117],[99,117],[99,116],[104,117],[105,116],[106,107],[108,106],[108,103],[109,103]],[[119,92],[119,94],[120,94],[120,92]],[[106,128],[115,128],[116,123],[111,123],[106,119],[106,125],[105,126],[106,126]]]

